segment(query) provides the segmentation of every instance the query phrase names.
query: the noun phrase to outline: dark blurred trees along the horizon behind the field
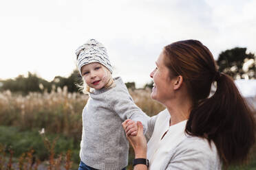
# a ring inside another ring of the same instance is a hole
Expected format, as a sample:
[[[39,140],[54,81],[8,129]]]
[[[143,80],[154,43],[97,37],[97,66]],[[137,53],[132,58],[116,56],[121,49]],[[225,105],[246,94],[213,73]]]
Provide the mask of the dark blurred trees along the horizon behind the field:
[[[219,71],[226,73],[237,79],[255,79],[256,78],[256,56],[254,53],[247,53],[246,48],[235,47],[222,51],[217,59]],[[0,91],[11,90],[14,93],[23,95],[29,92],[50,92],[53,88],[67,86],[67,90],[71,93],[78,92],[76,84],[81,84],[81,75],[74,70],[69,77],[56,76],[52,82],[48,82],[36,74],[28,73],[28,77],[19,75],[14,79],[0,80]],[[125,83],[127,88],[135,89],[135,82]],[[145,87],[151,88],[153,82],[145,84]]]

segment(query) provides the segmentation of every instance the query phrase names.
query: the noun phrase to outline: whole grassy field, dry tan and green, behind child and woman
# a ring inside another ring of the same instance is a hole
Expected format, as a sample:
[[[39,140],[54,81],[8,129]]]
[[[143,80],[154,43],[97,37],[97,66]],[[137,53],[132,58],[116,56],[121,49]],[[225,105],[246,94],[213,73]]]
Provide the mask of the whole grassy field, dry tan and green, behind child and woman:
[[[151,90],[129,90],[134,102],[149,116],[164,110],[150,98]],[[0,93],[0,170],[78,169],[82,110],[88,95],[57,88],[47,93]],[[256,102],[256,101],[255,101]],[[129,150],[129,166],[133,151]],[[256,147],[248,165],[256,169]]]

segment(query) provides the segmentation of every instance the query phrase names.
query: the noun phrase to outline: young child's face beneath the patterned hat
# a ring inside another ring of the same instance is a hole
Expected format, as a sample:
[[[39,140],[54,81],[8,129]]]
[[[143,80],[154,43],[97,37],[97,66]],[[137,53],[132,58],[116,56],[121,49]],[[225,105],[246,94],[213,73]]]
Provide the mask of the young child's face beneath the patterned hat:
[[[110,71],[105,69],[104,66],[98,62],[92,62],[82,66],[81,73],[86,84],[90,88],[97,90],[107,84],[110,76]]]

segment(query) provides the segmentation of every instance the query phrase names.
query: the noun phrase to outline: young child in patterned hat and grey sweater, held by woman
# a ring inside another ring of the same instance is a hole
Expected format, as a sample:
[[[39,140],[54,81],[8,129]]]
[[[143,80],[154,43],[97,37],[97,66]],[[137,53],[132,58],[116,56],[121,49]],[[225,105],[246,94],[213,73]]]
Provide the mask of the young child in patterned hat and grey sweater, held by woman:
[[[145,132],[149,117],[134,104],[122,79],[111,77],[113,68],[100,42],[88,40],[76,50],[76,59],[83,92],[89,93],[83,109],[79,170],[125,169],[129,143],[122,122],[131,119],[129,134],[136,135],[136,121],[142,122]]]

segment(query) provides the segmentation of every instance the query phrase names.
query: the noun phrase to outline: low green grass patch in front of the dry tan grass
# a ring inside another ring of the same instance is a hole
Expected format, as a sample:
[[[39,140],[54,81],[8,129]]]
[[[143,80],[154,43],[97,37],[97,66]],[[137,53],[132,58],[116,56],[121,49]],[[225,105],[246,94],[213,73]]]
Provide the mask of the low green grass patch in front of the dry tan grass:
[[[12,149],[14,151],[14,158],[19,158],[21,154],[34,149],[34,156],[41,161],[47,160],[50,156],[43,143],[43,136],[39,134],[39,129],[21,132],[17,127],[0,126],[0,134],[0,144],[5,147],[7,155],[8,150]],[[80,161],[79,144],[74,143],[72,138],[67,138],[61,134],[46,134],[45,136],[51,143],[56,139],[54,147],[56,156],[61,153],[65,154],[69,149],[72,151],[72,169],[77,169]]]

